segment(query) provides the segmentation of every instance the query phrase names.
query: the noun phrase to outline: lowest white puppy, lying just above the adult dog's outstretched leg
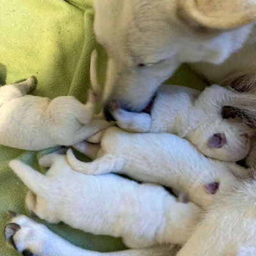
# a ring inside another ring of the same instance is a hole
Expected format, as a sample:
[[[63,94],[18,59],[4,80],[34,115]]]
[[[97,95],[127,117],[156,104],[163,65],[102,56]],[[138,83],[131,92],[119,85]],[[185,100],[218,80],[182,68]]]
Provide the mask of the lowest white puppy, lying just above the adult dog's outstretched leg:
[[[67,157],[56,153],[43,156],[39,164],[50,167],[46,175],[21,161],[10,162],[31,189],[26,196],[30,212],[84,232],[122,237],[131,248],[184,244],[203,212],[191,202],[177,202],[158,185],[138,184],[115,174],[74,172]]]

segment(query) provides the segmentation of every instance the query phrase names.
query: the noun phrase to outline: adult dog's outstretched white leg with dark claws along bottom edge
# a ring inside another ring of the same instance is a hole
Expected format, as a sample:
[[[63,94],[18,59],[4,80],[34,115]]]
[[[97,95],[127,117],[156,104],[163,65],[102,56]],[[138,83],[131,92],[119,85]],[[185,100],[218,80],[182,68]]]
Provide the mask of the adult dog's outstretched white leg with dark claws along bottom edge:
[[[179,249],[164,245],[113,253],[92,252],[74,246],[27,216],[16,216],[15,212],[12,212],[11,222],[4,228],[4,238],[18,252],[24,252],[24,255],[30,252],[37,256],[174,256]]]

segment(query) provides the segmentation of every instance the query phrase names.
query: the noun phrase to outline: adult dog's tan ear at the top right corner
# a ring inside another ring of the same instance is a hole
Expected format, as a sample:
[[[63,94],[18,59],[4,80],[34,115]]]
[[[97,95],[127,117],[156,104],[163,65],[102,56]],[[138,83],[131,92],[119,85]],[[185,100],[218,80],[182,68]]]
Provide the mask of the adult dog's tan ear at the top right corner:
[[[238,28],[256,21],[256,1],[177,0],[177,15],[196,29]]]

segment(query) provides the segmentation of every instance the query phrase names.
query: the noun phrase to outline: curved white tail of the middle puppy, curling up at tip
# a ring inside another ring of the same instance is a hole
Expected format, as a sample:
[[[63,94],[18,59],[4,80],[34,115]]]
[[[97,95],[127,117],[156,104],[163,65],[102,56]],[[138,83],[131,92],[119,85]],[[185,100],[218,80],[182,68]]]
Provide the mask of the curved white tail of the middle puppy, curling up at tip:
[[[111,154],[105,154],[102,157],[95,159],[90,163],[84,163],[79,161],[74,156],[72,149],[67,151],[68,163],[76,172],[84,174],[98,175],[110,172],[120,172],[124,166],[124,159],[122,156],[113,156]]]

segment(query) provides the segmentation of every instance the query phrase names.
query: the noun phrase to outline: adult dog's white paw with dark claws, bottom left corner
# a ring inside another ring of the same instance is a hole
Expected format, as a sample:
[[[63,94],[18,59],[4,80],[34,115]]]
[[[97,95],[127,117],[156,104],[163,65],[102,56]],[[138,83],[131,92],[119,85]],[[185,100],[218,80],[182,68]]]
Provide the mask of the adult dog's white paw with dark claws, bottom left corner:
[[[11,216],[12,217],[12,216]],[[47,241],[48,229],[24,215],[13,215],[12,220],[4,227],[4,239],[23,255],[34,255],[43,252]]]

